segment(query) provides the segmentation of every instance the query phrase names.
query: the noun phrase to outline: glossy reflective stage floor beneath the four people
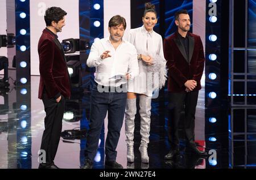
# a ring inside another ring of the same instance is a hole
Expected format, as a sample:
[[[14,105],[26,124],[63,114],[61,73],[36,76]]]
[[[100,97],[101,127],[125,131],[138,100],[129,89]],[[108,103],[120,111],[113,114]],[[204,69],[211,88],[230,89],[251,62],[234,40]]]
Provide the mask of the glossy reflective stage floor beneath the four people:
[[[44,108],[38,99],[38,76],[31,76],[31,85],[1,89],[0,93],[0,168],[38,168],[38,151],[44,130]],[[25,91],[26,89],[26,91]],[[22,96],[31,95],[20,104]],[[135,162],[126,160],[124,126],[117,147],[117,162],[124,168],[255,168],[256,167],[256,116],[255,108],[230,109],[222,106],[219,118],[209,122],[209,109],[204,106],[204,90],[200,91],[196,113],[195,139],[200,149],[209,152],[209,157],[201,158],[185,152],[181,140],[181,156],[175,161],[165,161],[164,155],[170,150],[167,138],[168,93],[160,92],[152,100],[151,132],[148,145],[149,164],[141,163],[139,153],[139,114],[135,119]],[[63,118],[63,132],[55,164],[60,168],[79,169],[84,163],[86,130],[88,130],[90,93],[74,93],[67,102]],[[19,103],[18,103],[19,101]],[[27,104],[26,104],[27,103]],[[216,122],[214,122],[216,120]],[[105,119],[104,126],[108,121]],[[237,125],[237,126],[236,126]],[[236,131],[236,133],[235,133]],[[180,138],[183,139],[182,125]],[[94,168],[104,168],[104,139],[106,128],[102,129]]]

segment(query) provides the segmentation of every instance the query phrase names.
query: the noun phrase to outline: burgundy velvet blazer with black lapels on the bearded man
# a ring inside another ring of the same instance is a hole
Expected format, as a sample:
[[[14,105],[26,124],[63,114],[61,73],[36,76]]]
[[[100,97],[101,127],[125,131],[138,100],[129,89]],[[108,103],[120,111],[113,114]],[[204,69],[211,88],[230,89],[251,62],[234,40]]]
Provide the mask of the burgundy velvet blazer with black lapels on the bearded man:
[[[185,82],[192,79],[197,82],[193,91],[200,90],[205,61],[201,38],[188,32],[189,57],[187,58],[177,33],[166,38],[163,46],[168,67],[168,91],[185,92]]]

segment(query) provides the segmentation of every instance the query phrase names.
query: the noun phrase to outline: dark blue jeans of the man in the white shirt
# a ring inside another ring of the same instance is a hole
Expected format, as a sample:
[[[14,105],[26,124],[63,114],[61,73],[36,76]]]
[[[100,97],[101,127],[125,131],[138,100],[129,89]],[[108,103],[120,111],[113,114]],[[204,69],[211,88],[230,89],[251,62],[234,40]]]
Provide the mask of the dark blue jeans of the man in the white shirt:
[[[108,135],[105,143],[106,161],[115,161],[120,131],[126,108],[126,92],[98,92],[94,84],[90,101],[90,123],[86,139],[85,159],[93,162],[97,153],[101,128],[108,111]]]

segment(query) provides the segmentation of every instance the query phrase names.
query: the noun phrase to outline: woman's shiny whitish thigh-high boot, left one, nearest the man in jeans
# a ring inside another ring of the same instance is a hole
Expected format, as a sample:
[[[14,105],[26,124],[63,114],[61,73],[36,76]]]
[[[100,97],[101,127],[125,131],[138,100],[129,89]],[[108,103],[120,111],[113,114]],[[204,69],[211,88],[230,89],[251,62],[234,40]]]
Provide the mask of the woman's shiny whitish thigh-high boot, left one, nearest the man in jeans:
[[[134,138],[134,119],[137,113],[136,98],[127,99],[125,110],[125,135],[127,142],[127,161],[134,162],[133,138]]]

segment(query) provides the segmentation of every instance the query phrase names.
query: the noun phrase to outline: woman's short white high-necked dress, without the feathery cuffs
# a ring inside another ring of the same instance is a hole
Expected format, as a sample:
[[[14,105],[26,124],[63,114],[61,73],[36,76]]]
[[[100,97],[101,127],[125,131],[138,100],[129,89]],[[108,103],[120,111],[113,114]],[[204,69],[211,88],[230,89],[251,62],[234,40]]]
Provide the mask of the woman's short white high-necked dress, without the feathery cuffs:
[[[138,54],[149,55],[150,57],[159,55],[164,59],[162,36],[155,31],[148,32],[144,25],[139,28],[130,29],[128,41],[135,46]],[[139,60],[138,63],[139,76],[129,80],[127,91],[151,97],[152,88],[150,88],[148,83],[148,78],[151,78],[151,76],[147,74],[147,65],[142,60]]]

